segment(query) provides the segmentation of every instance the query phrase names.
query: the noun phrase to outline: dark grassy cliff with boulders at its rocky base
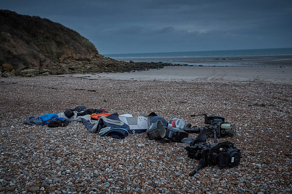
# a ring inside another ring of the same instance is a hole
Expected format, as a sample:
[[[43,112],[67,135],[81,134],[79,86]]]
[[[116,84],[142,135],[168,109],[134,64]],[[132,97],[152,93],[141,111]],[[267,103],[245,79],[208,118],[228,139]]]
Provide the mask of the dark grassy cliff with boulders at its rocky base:
[[[146,66],[104,57],[88,39],[48,19],[0,10],[0,74],[3,77],[129,72],[155,65]]]

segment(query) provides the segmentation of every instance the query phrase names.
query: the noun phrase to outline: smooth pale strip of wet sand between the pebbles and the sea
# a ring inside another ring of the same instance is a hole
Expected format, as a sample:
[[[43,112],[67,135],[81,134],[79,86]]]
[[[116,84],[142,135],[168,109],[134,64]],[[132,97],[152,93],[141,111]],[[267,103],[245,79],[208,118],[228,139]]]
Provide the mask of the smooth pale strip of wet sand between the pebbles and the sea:
[[[64,75],[58,75],[64,76]],[[65,76],[121,80],[160,80],[191,82],[262,82],[292,84],[292,68],[238,66],[165,66],[130,73],[66,74]]]

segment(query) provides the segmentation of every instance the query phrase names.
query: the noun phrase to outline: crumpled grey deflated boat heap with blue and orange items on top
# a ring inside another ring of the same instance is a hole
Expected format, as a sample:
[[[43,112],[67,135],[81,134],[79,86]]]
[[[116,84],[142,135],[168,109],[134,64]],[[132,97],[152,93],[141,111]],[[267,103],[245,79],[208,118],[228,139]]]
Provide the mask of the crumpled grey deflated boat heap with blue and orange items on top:
[[[58,114],[30,116],[24,124],[47,124],[49,127],[60,127],[68,126],[72,121],[82,121],[88,132],[122,139],[131,133],[145,133],[149,126],[158,120],[167,127],[168,121],[153,112],[141,117],[133,117],[130,114],[119,116],[117,112],[110,114],[105,109],[87,109],[85,106],[77,106]]]

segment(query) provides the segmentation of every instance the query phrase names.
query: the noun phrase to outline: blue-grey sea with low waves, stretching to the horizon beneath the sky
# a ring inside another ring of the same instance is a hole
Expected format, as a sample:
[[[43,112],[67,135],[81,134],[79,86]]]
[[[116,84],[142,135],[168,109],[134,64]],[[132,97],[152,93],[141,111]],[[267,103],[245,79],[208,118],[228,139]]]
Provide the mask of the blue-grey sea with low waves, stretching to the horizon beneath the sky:
[[[161,62],[192,66],[258,66],[291,67],[292,48],[207,50],[181,52],[149,52],[105,54],[104,56],[126,62]]]

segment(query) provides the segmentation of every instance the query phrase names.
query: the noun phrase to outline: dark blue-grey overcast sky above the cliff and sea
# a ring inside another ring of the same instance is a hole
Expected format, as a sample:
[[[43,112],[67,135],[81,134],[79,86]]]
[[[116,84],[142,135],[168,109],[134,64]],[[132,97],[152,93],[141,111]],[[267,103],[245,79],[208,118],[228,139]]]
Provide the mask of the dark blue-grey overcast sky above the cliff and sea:
[[[0,0],[74,29],[101,54],[292,47],[292,0]]]

